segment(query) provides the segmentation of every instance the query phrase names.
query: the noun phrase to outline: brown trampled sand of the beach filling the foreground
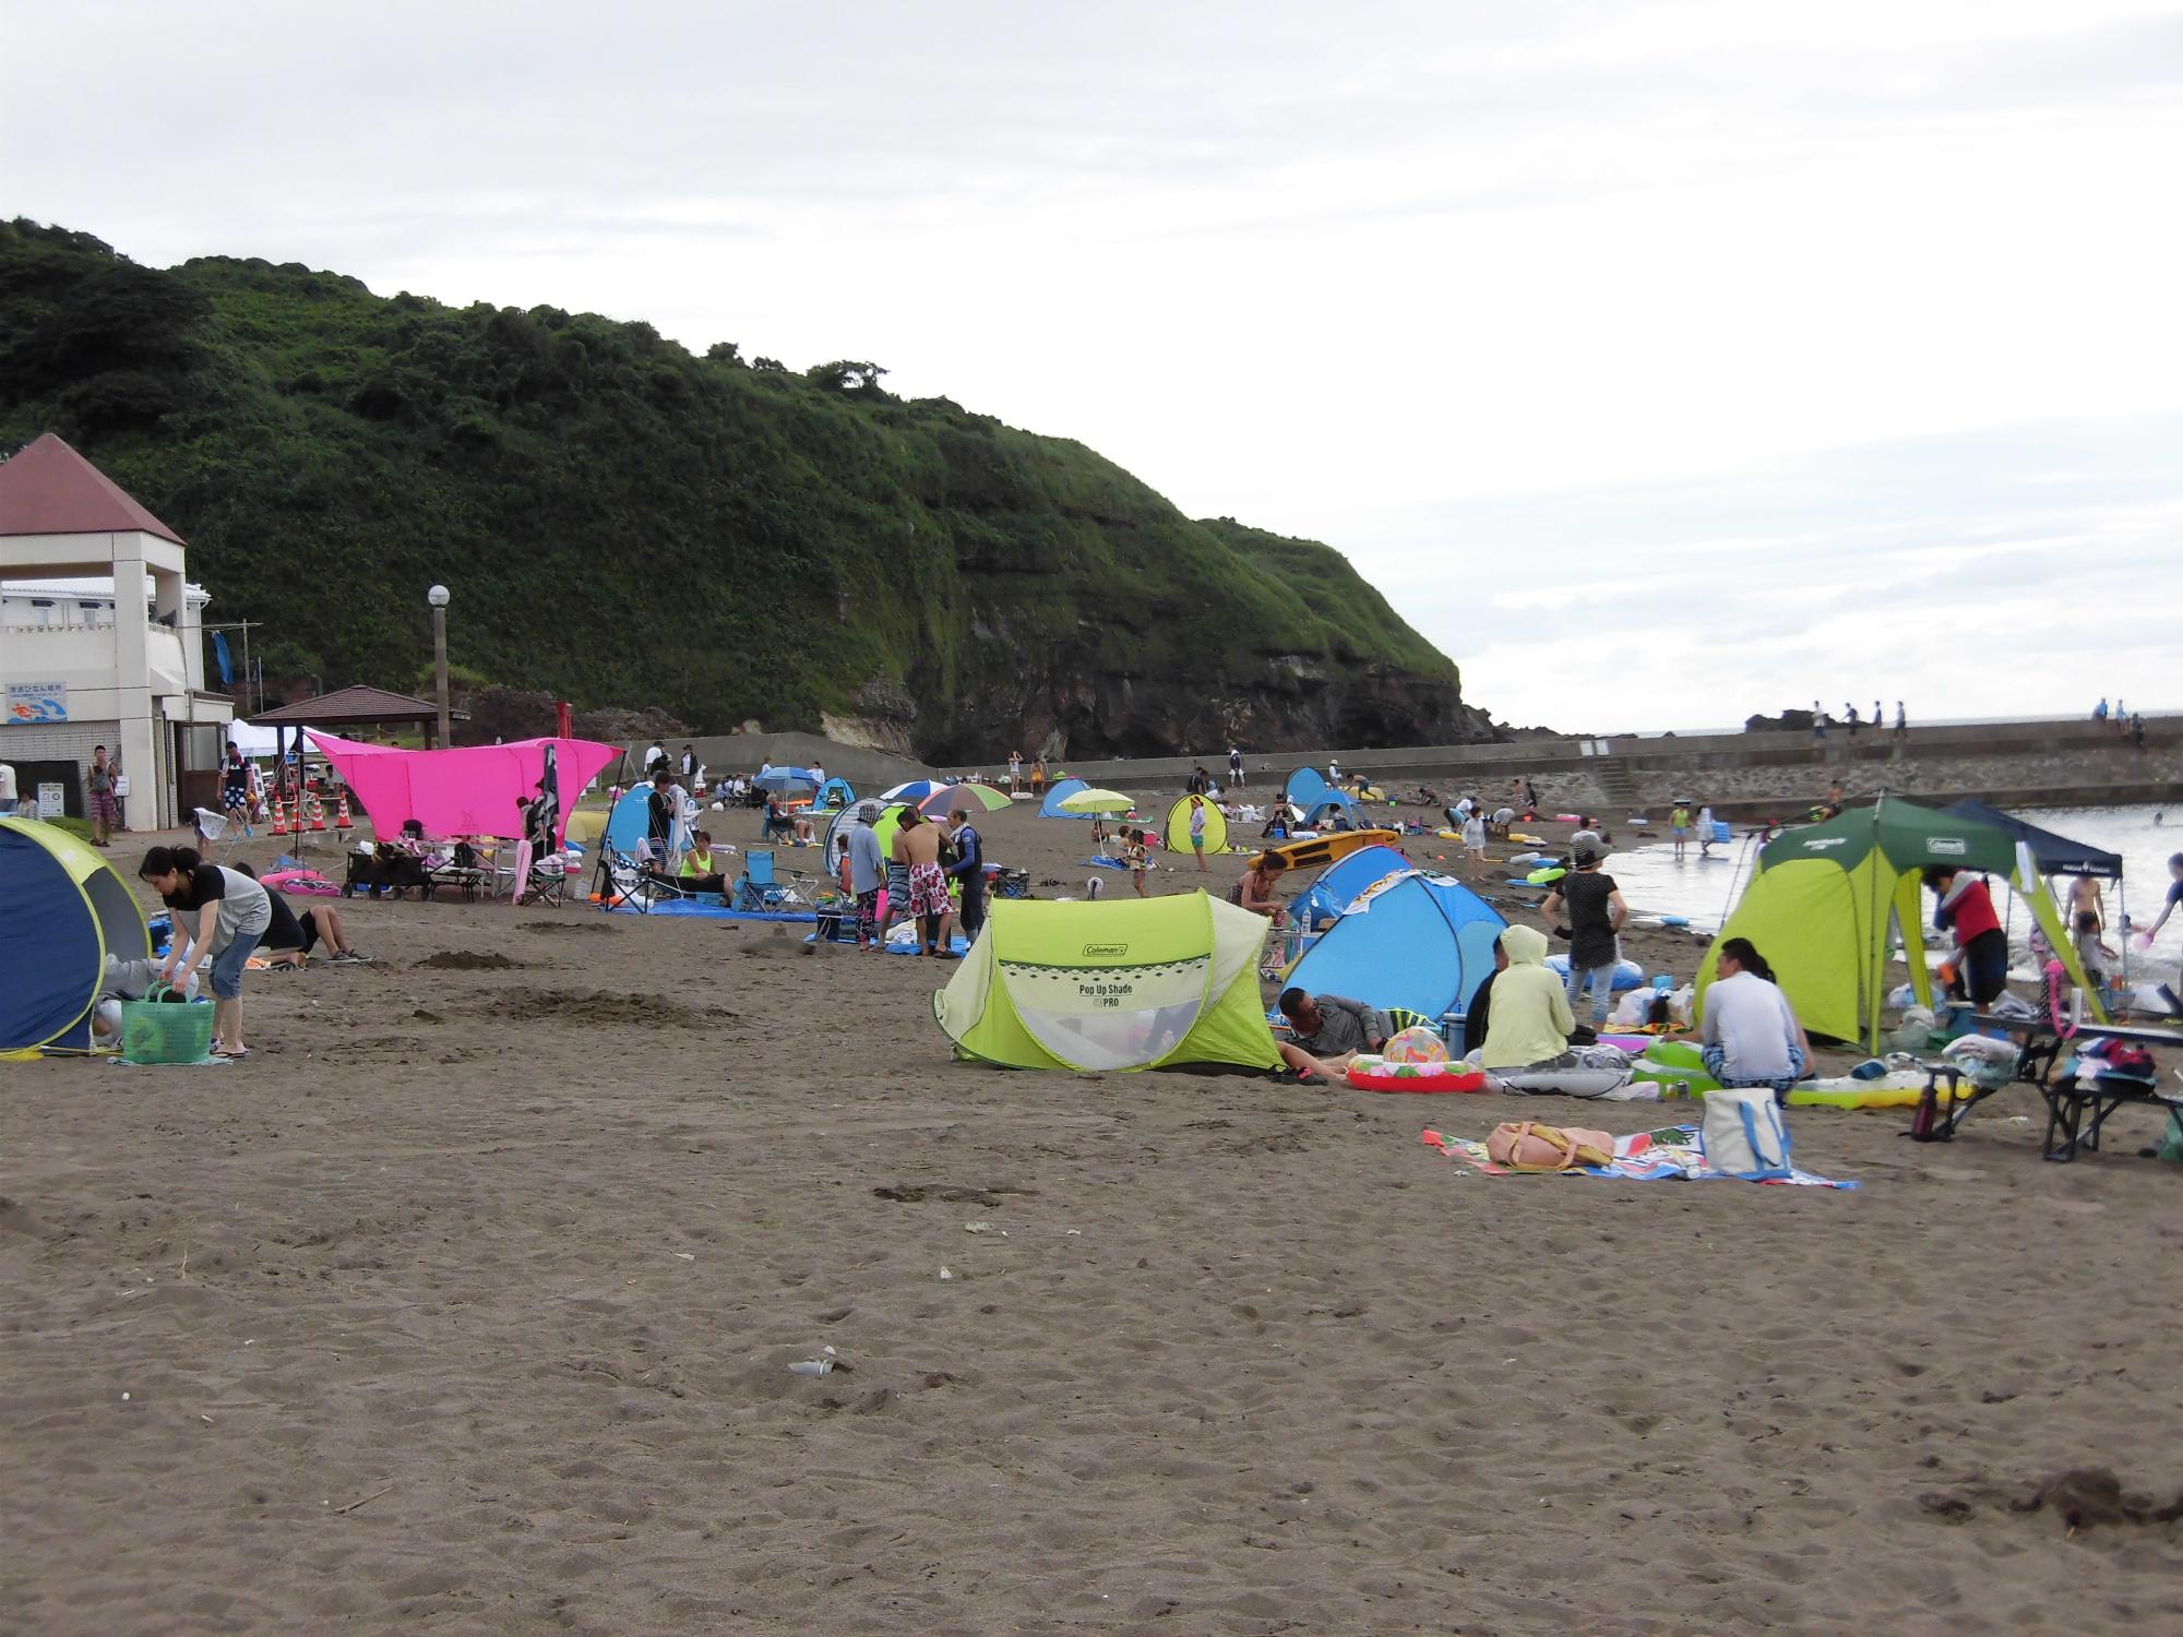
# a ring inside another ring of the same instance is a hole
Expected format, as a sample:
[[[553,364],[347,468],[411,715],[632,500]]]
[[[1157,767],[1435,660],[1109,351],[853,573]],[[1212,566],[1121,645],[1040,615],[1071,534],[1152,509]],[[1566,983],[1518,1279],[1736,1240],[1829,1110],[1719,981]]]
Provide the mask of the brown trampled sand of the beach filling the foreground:
[[[244,1063],[0,1067],[0,1630],[2183,1628],[2146,1113],[1487,1179],[1419,1133],[1663,1115],[1006,1074],[803,928],[341,908]]]

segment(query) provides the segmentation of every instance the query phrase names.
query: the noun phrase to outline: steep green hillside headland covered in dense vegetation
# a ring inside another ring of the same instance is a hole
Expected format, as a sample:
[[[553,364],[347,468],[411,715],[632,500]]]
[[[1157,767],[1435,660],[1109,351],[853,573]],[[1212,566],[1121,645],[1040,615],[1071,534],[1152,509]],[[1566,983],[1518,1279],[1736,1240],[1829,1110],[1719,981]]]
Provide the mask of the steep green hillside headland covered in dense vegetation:
[[[445,581],[467,672],[707,731],[854,720],[934,760],[1480,733],[1329,548],[882,375],[0,225],[0,447],[57,430],[172,524],[269,674],[415,688]]]

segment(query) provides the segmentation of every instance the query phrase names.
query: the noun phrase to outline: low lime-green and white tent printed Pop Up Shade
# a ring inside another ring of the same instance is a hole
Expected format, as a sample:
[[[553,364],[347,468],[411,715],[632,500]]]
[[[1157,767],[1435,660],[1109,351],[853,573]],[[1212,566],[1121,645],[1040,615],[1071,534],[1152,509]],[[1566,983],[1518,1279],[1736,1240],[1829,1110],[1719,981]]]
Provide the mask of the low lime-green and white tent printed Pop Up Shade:
[[[1281,1067],[1260,1011],[1266,919],[1205,893],[995,899],[932,1015],[1015,1070]]]

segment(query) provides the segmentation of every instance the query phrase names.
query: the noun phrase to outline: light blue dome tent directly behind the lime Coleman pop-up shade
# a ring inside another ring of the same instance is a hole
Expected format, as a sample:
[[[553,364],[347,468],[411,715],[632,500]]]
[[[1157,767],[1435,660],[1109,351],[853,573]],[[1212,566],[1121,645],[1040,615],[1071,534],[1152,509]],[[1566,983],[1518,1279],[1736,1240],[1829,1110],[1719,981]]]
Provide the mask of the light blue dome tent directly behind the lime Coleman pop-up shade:
[[[1441,1017],[1469,1008],[1506,928],[1463,882],[1410,871],[1356,901],[1303,952],[1288,982],[1314,995]]]

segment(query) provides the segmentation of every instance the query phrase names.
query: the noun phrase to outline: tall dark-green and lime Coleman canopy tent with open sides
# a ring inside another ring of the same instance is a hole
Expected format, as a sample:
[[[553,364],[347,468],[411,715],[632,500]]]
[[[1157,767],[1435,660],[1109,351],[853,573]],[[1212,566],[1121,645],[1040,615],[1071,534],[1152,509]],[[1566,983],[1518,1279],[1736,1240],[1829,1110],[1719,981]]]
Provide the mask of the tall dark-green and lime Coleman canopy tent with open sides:
[[[1814,1035],[1880,1050],[1888,952],[1901,936],[1910,984],[1932,1004],[1919,871],[1932,864],[2000,875],[2030,906],[2072,982],[2085,984],[2054,901],[2030,891],[2032,860],[1997,825],[1901,797],[1880,797],[1821,825],[1786,829],[1759,849],[1757,873],[1698,967],[1698,1004],[1720,945],[1751,939]]]

